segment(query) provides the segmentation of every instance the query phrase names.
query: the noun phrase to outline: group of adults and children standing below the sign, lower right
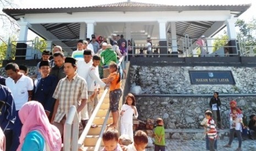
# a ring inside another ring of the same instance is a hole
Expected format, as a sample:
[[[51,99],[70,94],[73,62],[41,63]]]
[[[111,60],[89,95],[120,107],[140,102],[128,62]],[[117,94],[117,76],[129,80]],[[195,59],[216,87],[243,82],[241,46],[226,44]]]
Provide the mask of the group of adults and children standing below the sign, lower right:
[[[221,101],[219,92],[214,92],[214,96],[210,99],[209,106],[211,109],[205,111],[205,119],[203,119],[200,124],[205,127],[206,150],[214,151],[217,150],[217,130],[224,129],[220,113]],[[228,120],[230,123],[229,141],[224,147],[231,147],[233,138],[236,134],[236,137],[238,138],[238,148],[236,150],[242,150],[242,134],[245,133],[250,139],[254,139],[256,136],[256,115],[250,115],[250,121],[247,125],[246,115],[242,113],[241,108],[237,107],[237,102],[232,100],[230,101]]]

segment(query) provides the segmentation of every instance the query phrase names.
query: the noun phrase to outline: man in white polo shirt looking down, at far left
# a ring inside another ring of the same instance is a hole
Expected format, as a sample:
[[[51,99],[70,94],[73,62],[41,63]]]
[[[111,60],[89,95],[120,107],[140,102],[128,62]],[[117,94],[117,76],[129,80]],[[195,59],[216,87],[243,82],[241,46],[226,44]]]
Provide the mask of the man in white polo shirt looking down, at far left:
[[[8,63],[5,69],[6,74],[8,75],[8,78],[6,79],[6,86],[13,94],[16,108],[16,120],[13,128],[13,144],[10,150],[17,150],[22,126],[18,112],[23,104],[31,101],[34,86],[31,78],[19,72],[19,66],[16,63]]]

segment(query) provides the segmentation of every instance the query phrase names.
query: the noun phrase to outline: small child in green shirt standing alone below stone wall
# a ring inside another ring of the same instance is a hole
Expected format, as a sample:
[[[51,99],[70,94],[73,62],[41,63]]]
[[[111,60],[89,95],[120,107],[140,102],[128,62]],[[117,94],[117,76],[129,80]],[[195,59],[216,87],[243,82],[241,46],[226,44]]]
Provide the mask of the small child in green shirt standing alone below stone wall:
[[[156,119],[157,126],[155,127],[155,150],[165,151],[165,128],[164,120],[161,118]]]

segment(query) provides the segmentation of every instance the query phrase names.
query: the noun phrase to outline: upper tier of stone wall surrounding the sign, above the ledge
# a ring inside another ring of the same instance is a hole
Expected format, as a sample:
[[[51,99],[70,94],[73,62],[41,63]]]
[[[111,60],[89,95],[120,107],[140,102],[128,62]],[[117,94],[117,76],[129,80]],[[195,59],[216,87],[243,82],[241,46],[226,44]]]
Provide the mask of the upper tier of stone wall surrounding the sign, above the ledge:
[[[130,66],[131,85],[141,94],[256,94],[255,67],[229,66]],[[190,84],[189,71],[232,71],[236,85]]]

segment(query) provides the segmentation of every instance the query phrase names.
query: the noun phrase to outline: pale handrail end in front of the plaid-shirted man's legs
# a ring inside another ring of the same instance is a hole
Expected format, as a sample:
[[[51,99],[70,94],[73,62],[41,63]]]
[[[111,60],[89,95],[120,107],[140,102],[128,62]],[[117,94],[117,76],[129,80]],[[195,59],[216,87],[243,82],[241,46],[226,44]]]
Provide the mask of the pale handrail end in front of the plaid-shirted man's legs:
[[[77,114],[77,108],[71,106],[69,109],[69,114],[64,124],[64,133],[63,133],[63,150],[77,150],[78,144],[72,143],[78,141],[79,133],[79,119]]]

